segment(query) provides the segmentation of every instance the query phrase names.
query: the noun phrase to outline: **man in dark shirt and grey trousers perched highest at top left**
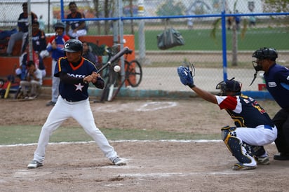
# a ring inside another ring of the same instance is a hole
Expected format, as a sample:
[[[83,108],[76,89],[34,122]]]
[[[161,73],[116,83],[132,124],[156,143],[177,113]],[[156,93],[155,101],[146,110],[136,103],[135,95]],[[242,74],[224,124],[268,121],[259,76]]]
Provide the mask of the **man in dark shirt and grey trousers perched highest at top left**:
[[[8,47],[6,50],[7,56],[12,55],[13,47],[15,45],[16,41],[20,41],[22,39],[22,46],[21,50],[23,50],[23,47],[25,45],[25,39],[28,34],[28,12],[27,12],[27,3],[22,4],[23,12],[19,15],[18,18],[18,32],[15,34],[12,34],[9,42]],[[37,21],[37,15],[33,12],[31,12],[32,22]]]

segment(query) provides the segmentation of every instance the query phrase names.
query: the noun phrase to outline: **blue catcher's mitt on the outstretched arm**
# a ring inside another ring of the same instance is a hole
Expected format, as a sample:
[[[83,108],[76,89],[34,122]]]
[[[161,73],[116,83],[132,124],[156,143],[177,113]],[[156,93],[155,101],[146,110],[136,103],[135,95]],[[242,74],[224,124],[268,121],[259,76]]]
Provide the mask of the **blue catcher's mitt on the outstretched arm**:
[[[195,69],[194,65],[191,64],[190,62],[183,62],[184,65],[187,65],[187,67],[180,66],[177,67],[177,74],[180,76],[180,81],[184,85],[188,85],[190,88],[194,88],[194,74],[195,74]],[[189,69],[191,67],[191,69]]]

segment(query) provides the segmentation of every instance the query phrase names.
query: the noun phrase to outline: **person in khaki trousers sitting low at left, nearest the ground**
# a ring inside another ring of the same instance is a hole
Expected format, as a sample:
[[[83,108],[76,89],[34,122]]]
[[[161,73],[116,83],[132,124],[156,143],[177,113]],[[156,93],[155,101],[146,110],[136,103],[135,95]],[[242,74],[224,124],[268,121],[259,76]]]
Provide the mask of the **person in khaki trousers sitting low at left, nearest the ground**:
[[[39,88],[42,85],[42,74],[39,69],[36,68],[33,61],[29,61],[27,64],[27,77],[24,81],[20,81],[20,86],[25,99],[33,100],[38,95]],[[28,90],[30,90],[28,95]]]

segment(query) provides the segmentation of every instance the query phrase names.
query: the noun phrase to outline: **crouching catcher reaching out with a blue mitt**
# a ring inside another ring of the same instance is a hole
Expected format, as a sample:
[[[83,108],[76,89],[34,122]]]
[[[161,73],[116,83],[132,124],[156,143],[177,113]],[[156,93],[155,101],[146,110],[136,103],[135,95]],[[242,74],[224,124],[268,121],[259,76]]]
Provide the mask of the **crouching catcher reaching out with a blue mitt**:
[[[191,65],[192,66],[192,65]],[[191,69],[194,70],[193,67]],[[233,170],[253,170],[260,165],[269,165],[270,160],[264,145],[271,144],[277,137],[277,128],[267,112],[253,98],[241,94],[242,84],[230,80],[221,81],[213,95],[194,85],[192,71],[188,67],[177,68],[182,84],[189,86],[203,100],[217,104],[225,109],[236,127],[221,128],[222,140],[232,155],[238,160]]]

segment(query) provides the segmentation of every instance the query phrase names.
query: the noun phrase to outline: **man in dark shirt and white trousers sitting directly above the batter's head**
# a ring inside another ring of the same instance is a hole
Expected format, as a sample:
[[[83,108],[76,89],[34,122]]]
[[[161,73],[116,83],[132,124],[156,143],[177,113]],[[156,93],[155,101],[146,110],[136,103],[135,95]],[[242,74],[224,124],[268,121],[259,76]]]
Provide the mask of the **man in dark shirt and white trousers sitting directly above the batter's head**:
[[[81,19],[85,18],[83,13],[77,11],[77,6],[74,1],[69,3],[69,10],[71,13],[67,15],[67,19]],[[85,21],[68,21],[66,22],[66,34],[72,39],[79,39],[79,36],[87,34]]]

